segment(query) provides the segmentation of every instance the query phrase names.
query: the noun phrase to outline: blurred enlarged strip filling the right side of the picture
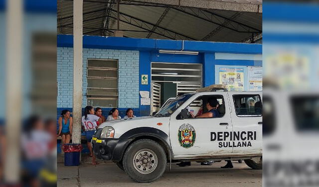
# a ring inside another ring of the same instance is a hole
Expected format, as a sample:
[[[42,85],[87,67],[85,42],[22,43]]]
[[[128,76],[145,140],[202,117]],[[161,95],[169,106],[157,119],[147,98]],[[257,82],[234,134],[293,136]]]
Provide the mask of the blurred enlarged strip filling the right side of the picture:
[[[263,186],[319,186],[319,4],[263,3]]]

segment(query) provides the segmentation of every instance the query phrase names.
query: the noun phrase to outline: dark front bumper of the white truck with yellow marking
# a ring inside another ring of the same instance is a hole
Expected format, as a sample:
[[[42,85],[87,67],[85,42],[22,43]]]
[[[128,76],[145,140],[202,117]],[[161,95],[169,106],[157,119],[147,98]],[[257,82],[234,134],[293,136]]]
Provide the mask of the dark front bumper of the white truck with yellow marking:
[[[120,161],[126,147],[133,139],[127,138],[110,138],[110,139],[98,139],[93,138],[93,152],[98,159]]]

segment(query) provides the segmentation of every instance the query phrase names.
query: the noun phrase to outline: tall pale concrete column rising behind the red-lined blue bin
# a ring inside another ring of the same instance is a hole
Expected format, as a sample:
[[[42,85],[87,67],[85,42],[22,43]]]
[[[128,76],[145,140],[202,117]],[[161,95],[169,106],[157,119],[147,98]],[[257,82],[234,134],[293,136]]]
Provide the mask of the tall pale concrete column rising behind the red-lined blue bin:
[[[83,0],[73,0],[73,130],[72,142],[81,143],[83,87]]]

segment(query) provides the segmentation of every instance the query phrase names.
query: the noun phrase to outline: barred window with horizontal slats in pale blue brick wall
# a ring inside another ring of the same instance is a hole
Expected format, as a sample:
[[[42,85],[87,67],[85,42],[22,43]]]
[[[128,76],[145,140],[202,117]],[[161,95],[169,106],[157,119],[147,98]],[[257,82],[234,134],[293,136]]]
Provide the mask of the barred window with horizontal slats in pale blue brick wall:
[[[118,60],[88,60],[88,105],[100,107],[118,107],[118,67]]]

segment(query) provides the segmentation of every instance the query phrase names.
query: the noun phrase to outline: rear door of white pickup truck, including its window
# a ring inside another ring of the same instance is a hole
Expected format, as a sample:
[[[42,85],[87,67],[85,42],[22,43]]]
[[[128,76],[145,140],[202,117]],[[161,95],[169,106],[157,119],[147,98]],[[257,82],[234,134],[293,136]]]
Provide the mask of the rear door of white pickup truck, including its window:
[[[228,93],[233,124],[233,153],[262,151],[262,95]]]

